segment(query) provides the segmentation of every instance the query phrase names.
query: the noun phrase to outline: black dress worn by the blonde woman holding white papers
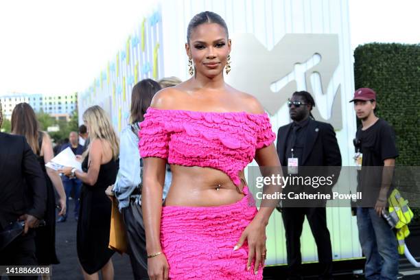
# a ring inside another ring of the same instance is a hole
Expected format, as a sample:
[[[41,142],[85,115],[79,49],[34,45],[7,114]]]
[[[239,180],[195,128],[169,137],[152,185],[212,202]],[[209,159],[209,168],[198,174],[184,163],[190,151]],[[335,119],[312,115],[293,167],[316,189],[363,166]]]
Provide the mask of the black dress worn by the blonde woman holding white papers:
[[[86,156],[82,163],[85,172],[88,162],[89,156]],[[77,246],[80,264],[90,275],[104,267],[115,253],[108,248],[111,202],[105,190],[115,183],[117,171],[118,163],[111,159],[101,165],[95,185],[82,185]]]

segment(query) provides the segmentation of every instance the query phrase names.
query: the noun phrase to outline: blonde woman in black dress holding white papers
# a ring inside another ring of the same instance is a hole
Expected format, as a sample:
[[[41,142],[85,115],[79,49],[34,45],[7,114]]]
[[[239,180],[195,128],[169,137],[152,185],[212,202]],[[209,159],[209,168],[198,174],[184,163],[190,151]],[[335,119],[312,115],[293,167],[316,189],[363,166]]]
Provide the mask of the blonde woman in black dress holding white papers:
[[[82,169],[64,167],[66,176],[82,180],[78,219],[78,257],[84,279],[113,279],[114,268],[110,259],[114,251],[108,248],[111,202],[105,189],[115,182],[118,171],[119,143],[105,111],[92,106],[83,114],[89,133],[89,147],[84,152]]]

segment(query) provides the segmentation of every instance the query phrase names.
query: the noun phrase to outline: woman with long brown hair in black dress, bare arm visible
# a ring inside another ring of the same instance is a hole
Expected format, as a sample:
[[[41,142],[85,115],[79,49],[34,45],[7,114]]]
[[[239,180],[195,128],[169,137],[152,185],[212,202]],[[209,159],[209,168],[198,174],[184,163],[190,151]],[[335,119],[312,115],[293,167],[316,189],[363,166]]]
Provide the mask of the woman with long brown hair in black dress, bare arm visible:
[[[17,104],[13,109],[11,122],[12,134],[25,136],[27,143],[30,144],[34,154],[36,154],[47,183],[47,209],[43,218],[45,226],[36,229],[36,259],[38,264],[43,266],[60,264],[56,254],[56,198],[53,187],[60,196],[60,213],[58,215],[65,214],[66,194],[58,172],[45,168],[45,163],[51,161],[54,157],[51,139],[46,132],[39,130],[36,115],[30,104]]]

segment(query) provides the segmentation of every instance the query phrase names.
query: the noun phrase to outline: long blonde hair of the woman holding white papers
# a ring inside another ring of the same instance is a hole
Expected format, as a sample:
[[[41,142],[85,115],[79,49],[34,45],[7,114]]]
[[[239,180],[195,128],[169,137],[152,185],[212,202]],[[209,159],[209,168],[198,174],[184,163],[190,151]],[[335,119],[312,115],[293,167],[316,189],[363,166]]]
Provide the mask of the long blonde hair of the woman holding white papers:
[[[86,121],[89,127],[90,140],[89,146],[83,155],[86,156],[86,154],[89,154],[91,143],[95,139],[104,139],[110,143],[110,148],[113,151],[113,159],[117,159],[119,155],[119,141],[105,110],[97,105],[91,106],[84,111],[83,121]]]

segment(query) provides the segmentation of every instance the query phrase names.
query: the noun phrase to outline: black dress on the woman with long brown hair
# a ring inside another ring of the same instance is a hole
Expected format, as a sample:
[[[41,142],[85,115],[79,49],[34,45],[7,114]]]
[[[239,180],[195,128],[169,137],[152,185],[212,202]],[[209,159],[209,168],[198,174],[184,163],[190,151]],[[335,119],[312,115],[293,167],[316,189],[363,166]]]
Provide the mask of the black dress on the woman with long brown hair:
[[[43,132],[39,132],[38,145],[39,149],[43,145]],[[47,175],[45,169],[44,156],[40,156],[40,152],[36,153],[41,169],[47,183],[47,209],[45,209],[44,220],[45,226],[40,226],[35,230],[35,255],[38,264],[49,266],[50,264],[60,264],[56,254],[56,195],[51,179]]]

